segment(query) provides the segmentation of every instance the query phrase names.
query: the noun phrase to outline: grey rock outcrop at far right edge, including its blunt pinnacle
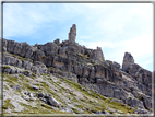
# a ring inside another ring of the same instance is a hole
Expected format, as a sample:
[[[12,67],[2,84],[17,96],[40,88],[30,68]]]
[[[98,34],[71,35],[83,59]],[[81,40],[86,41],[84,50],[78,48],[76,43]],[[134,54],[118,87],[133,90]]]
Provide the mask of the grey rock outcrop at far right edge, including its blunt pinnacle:
[[[138,81],[136,85],[143,93],[150,96],[152,95],[152,72],[134,63],[131,54],[124,54],[122,70]]]

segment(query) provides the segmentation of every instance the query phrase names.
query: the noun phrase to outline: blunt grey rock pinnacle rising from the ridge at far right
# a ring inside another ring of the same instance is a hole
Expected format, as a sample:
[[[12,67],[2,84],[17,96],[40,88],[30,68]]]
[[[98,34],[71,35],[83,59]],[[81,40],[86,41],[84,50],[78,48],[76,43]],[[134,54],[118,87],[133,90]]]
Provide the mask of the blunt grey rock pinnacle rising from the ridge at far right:
[[[134,59],[130,52],[124,52],[122,70],[127,71],[131,65],[134,63]]]

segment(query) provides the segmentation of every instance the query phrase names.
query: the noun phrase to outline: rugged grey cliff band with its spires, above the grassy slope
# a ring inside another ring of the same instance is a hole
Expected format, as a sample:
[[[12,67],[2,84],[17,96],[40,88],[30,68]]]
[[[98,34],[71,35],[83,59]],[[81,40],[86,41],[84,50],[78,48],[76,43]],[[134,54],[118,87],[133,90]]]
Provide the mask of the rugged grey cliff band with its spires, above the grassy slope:
[[[102,48],[88,49],[75,43],[76,26],[70,30],[69,40],[31,46],[27,43],[2,40],[4,73],[27,77],[56,74],[72,80],[103,96],[134,107],[134,113],[152,109],[152,72],[134,63],[126,52],[120,65],[105,60]],[[14,68],[14,67],[17,67]],[[25,69],[25,71],[19,69]],[[135,109],[136,108],[136,109]]]

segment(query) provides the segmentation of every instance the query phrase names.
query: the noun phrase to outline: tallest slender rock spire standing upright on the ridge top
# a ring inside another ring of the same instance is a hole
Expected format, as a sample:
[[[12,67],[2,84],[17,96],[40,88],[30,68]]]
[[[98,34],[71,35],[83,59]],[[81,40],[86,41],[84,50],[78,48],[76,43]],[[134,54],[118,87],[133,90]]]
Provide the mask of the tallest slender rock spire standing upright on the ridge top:
[[[72,27],[70,28],[69,42],[75,43],[75,37],[76,37],[76,25],[73,24]]]

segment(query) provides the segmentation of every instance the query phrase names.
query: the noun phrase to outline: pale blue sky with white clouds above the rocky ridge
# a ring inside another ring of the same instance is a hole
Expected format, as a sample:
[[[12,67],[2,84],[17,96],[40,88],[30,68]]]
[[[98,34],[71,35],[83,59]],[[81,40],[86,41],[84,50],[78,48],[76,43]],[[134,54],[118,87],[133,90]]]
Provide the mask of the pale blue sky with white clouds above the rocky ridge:
[[[152,3],[4,3],[3,37],[31,45],[68,39],[102,47],[105,59],[122,65],[124,52],[153,71]]]

